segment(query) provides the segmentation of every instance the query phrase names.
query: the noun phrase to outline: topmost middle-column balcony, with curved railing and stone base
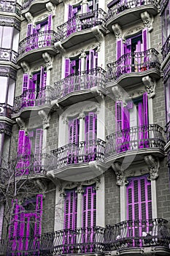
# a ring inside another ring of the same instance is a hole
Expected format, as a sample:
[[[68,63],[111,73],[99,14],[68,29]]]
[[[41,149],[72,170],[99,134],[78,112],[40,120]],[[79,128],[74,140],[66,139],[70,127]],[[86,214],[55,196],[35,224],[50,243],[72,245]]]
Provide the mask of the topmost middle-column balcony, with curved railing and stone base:
[[[62,47],[65,49],[79,45],[81,42],[87,42],[95,38],[96,31],[93,30],[95,26],[98,26],[98,29],[106,34],[105,16],[106,12],[102,9],[74,16],[57,27],[58,41],[61,41]]]

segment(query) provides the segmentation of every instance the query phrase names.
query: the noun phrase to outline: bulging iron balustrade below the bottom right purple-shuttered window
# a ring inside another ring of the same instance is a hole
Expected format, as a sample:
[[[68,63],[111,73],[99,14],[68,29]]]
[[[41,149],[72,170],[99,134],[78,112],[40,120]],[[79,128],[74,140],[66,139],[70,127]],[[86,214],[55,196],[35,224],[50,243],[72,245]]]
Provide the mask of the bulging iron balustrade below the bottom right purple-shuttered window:
[[[166,219],[135,219],[108,225],[104,233],[105,250],[163,246],[169,249],[170,234]]]

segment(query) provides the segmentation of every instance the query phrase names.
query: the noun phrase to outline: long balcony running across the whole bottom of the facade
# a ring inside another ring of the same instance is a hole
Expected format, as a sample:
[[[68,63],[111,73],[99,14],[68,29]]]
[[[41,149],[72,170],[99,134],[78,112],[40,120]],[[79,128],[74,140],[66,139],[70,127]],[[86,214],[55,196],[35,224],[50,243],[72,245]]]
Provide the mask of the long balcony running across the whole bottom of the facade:
[[[8,255],[91,255],[115,251],[114,255],[169,255],[170,235],[166,219],[128,220],[107,227],[83,227],[19,237],[7,242]],[[14,245],[15,246],[12,246]],[[22,246],[20,246],[22,244]],[[27,244],[28,249],[25,249]]]

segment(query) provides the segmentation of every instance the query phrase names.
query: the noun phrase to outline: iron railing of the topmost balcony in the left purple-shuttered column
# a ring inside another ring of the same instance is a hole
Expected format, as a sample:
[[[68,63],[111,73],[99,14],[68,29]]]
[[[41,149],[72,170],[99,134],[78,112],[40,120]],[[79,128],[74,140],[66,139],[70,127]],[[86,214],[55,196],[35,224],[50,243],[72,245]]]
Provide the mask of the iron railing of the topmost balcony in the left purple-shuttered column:
[[[53,30],[31,34],[31,36],[20,41],[18,55],[21,56],[29,50],[53,46],[56,38],[57,34]]]

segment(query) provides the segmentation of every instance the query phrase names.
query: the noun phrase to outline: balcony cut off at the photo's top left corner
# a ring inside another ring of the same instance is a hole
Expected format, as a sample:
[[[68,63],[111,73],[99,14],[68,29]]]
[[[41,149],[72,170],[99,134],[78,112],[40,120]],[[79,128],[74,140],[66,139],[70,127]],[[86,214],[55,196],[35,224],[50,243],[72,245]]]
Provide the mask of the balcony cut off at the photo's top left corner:
[[[21,6],[14,1],[0,1],[0,12],[10,12],[21,16]]]

